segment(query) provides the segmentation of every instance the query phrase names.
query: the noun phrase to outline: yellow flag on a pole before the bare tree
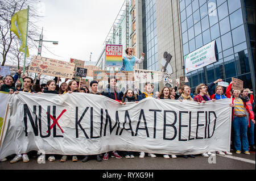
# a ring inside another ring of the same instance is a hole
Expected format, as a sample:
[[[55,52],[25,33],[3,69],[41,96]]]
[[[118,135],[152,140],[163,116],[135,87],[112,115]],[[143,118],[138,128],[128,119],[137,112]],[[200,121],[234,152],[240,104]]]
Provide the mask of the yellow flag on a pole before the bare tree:
[[[15,35],[18,36],[20,40],[20,52],[25,53],[25,47],[26,47],[26,37],[27,37],[27,9],[20,10],[14,14],[14,16],[11,18],[11,31],[15,33]],[[28,47],[27,47],[27,55],[26,57],[29,57],[28,53]]]

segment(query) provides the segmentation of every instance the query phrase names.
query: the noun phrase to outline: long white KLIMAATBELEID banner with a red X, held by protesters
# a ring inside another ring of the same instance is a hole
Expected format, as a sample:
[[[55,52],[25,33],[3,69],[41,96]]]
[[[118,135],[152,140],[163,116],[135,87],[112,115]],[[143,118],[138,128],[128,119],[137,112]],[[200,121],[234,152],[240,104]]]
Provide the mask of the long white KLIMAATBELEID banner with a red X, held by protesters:
[[[0,159],[30,150],[65,155],[112,150],[177,155],[229,151],[231,102],[146,98],[120,105],[106,96],[79,92],[19,92],[9,98],[10,119]]]

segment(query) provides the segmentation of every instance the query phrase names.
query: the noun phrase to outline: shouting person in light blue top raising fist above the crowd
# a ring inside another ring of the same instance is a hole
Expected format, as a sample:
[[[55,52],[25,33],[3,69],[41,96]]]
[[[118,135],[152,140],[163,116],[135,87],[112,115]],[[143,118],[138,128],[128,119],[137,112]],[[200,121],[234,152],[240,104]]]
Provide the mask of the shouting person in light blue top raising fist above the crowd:
[[[142,53],[142,57],[138,59],[133,56],[133,48],[128,47],[125,50],[125,56],[123,56],[123,67],[121,71],[133,71],[135,64],[141,64],[144,61],[144,53]]]

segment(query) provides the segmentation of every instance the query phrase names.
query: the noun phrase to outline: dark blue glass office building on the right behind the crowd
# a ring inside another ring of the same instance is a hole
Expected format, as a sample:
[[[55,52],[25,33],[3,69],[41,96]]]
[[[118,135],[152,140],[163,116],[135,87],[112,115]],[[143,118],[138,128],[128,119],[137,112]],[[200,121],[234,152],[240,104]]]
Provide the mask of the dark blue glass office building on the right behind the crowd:
[[[255,2],[179,0],[179,6],[183,56],[213,40],[217,45],[217,62],[185,74],[192,91],[200,83],[232,77],[255,91]]]

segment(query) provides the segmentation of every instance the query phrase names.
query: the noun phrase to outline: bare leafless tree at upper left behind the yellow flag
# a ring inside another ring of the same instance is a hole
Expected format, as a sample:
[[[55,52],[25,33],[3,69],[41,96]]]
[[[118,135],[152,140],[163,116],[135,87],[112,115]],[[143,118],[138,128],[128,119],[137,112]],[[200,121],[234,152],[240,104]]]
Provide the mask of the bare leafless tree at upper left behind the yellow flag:
[[[20,66],[20,60],[23,52],[19,52],[19,39],[10,31],[11,17],[18,11],[27,9],[30,6],[29,11],[29,23],[28,23],[28,40],[27,45],[29,48],[36,47],[34,39],[39,36],[39,28],[35,23],[41,16],[37,15],[36,6],[40,1],[38,0],[0,0],[0,53],[2,55],[2,66],[6,61],[10,61],[11,64]],[[23,65],[22,65],[23,66]]]

